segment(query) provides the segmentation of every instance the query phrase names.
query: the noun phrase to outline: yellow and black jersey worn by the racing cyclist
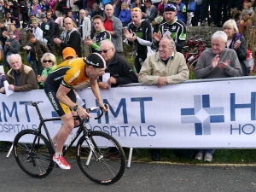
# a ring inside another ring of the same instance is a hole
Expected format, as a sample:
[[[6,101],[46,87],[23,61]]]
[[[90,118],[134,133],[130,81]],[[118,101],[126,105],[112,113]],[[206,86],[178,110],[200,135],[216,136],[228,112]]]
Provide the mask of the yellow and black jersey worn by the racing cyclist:
[[[88,80],[85,74],[86,64],[83,58],[77,58],[62,62],[54,71],[49,73],[45,84],[48,84],[50,89],[58,90],[60,84],[67,88],[73,85],[80,84]]]

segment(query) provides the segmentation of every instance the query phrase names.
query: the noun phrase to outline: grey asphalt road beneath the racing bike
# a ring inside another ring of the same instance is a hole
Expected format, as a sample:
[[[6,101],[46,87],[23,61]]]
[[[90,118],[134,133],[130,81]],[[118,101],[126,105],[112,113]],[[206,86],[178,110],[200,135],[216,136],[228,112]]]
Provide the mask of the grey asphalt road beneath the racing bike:
[[[103,186],[90,182],[67,159],[72,170],[56,168],[48,177],[32,178],[22,172],[13,154],[0,153],[0,192],[102,192],[102,191],[256,191],[255,166],[195,166],[164,163],[131,163],[119,182]]]

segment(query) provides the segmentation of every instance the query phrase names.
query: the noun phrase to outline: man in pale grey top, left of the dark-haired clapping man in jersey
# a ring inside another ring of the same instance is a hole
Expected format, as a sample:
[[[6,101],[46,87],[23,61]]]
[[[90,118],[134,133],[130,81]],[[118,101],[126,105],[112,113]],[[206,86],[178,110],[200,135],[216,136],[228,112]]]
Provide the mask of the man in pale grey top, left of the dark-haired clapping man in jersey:
[[[88,17],[85,15],[85,10],[80,10],[80,21],[79,21],[79,32],[81,35],[82,40],[82,49],[83,49],[83,55],[88,56],[90,55],[90,48],[87,44],[84,44],[84,41],[86,41],[88,38],[90,38],[90,31],[91,31],[91,22]]]

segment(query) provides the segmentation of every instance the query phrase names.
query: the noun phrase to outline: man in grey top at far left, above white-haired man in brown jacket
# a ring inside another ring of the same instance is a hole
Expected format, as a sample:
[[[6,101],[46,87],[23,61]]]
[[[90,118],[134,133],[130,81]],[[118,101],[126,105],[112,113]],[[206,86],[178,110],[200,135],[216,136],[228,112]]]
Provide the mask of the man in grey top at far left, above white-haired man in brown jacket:
[[[3,53],[5,58],[5,66],[9,67],[9,63],[6,58],[12,54],[18,54],[20,52],[20,43],[14,38],[14,32],[11,30],[7,31],[8,39],[5,41]]]

